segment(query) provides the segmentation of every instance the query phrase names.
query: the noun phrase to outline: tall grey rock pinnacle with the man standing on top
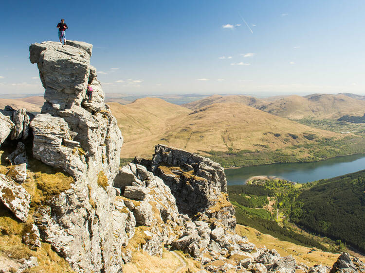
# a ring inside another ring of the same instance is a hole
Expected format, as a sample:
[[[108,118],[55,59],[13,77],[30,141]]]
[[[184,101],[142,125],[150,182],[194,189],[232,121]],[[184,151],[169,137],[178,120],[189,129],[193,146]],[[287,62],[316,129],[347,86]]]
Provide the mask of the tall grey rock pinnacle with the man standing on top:
[[[53,197],[33,217],[41,238],[74,271],[118,272],[123,264],[121,246],[129,239],[126,230],[134,234],[129,223],[135,221],[127,207],[120,211],[113,205],[112,181],[123,138],[104,103],[96,69],[90,66],[92,45],[67,43],[35,43],[29,49],[46,100],[41,114],[30,123],[33,155],[74,179],[70,189]],[[88,83],[95,93],[92,109],[82,103]]]

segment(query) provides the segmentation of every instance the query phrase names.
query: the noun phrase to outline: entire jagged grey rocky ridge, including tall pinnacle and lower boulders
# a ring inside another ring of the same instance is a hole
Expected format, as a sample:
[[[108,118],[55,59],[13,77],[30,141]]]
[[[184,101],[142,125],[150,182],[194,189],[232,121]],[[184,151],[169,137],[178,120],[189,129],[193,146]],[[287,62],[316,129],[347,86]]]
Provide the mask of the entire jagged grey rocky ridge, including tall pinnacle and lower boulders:
[[[160,144],[151,160],[136,158],[119,168],[123,138],[104,103],[91,53],[84,42],[32,44],[30,60],[45,88],[42,112],[0,115],[1,143],[17,144],[7,174],[0,175],[0,202],[26,222],[22,242],[29,249],[49,243],[75,272],[122,272],[137,251],[162,256],[164,247],[199,261],[201,272],[329,272],[237,235],[224,171],[209,158]],[[84,99],[88,84],[92,102]],[[31,141],[32,154],[20,140]],[[63,172],[46,177],[55,184],[37,182],[42,198],[23,187],[27,157]],[[16,173],[13,167],[21,164]],[[64,180],[56,180],[60,176]],[[331,272],[363,272],[360,261],[340,258]],[[37,266],[37,258],[23,263]]]

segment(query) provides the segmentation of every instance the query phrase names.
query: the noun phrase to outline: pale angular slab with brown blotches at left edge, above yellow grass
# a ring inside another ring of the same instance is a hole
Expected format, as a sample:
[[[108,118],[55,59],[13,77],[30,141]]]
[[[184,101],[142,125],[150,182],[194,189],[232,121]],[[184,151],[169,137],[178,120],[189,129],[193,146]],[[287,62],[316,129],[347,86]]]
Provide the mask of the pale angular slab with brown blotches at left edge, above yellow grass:
[[[22,222],[27,221],[30,199],[25,188],[0,173],[0,201]]]

